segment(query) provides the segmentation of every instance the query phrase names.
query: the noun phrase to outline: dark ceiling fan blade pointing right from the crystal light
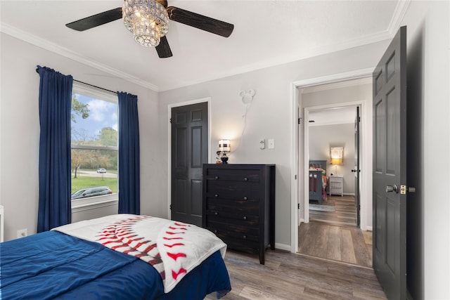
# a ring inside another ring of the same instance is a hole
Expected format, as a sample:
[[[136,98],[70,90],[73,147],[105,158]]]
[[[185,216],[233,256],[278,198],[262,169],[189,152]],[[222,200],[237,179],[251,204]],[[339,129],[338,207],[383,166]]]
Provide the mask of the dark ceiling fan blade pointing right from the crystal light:
[[[198,13],[193,13],[191,11],[185,11],[184,9],[174,6],[169,6],[167,8],[167,13],[169,14],[170,20],[198,28],[200,30],[205,30],[207,32],[219,34],[222,37],[229,37],[234,29],[233,24],[216,20],[205,15],[199,15]]]

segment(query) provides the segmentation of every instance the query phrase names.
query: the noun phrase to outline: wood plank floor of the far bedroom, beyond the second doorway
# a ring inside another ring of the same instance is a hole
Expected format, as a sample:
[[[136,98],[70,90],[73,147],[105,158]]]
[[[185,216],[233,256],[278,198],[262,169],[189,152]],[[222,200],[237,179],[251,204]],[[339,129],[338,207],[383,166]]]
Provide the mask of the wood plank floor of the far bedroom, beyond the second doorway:
[[[316,203],[316,202],[312,202]],[[356,207],[353,196],[328,196],[323,204],[334,205],[335,211],[314,211],[309,209],[309,220],[343,226],[356,226]]]

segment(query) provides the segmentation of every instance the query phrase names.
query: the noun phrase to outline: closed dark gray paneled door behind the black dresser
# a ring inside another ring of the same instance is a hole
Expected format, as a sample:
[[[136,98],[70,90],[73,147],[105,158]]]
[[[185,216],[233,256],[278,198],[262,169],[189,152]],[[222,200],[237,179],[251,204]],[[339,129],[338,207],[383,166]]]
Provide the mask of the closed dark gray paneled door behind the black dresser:
[[[207,103],[172,108],[172,220],[202,225],[202,168],[208,157]]]

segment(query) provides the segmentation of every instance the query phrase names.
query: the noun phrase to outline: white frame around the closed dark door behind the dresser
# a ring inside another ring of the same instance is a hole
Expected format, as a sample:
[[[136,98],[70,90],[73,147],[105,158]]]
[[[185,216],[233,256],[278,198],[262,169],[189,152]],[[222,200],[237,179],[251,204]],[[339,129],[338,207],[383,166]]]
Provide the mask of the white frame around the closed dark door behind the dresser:
[[[198,104],[198,103],[204,103],[206,102],[208,105],[208,163],[211,163],[211,149],[212,149],[212,145],[211,145],[211,115],[212,115],[212,98],[211,97],[207,97],[207,98],[200,98],[200,99],[194,99],[194,100],[188,100],[188,101],[184,101],[184,102],[179,102],[179,103],[172,103],[167,105],[167,121],[168,121],[168,126],[167,126],[167,136],[168,136],[168,141],[167,141],[167,219],[172,219],[172,211],[170,210],[170,202],[172,199],[172,159],[170,157],[171,153],[172,153],[172,126],[170,126],[170,118],[172,117],[172,108],[174,107],[180,107],[180,106],[186,106],[186,105],[193,105],[193,104]]]

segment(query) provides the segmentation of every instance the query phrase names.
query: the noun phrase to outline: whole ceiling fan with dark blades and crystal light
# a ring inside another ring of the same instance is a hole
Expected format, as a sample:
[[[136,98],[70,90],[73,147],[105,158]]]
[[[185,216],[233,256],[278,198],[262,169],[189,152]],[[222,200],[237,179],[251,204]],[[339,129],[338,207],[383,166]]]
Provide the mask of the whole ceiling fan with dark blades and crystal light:
[[[90,17],[70,22],[65,26],[84,31],[123,18],[124,25],[134,34],[134,40],[142,46],[155,46],[160,58],[172,56],[165,34],[169,20],[205,30],[222,37],[229,37],[234,25],[199,15],[174,6],[167,7],[164,0],[124,0],[119,8],[104,11]]]

